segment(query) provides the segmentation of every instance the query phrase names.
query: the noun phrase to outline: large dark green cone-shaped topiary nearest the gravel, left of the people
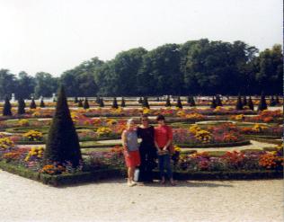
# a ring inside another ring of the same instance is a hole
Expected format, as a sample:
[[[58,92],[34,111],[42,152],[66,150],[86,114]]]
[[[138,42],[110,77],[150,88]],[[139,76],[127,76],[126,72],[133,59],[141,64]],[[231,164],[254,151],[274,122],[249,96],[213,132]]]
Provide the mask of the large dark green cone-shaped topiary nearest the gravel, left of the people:
[[[77,166],[80,160],[82,160],[82,156],[79,139],[71,119],[65,90],[61,86],[58,92],[56,111],[49,128],[44,162],[46,164],[70,162],[73,166]]]

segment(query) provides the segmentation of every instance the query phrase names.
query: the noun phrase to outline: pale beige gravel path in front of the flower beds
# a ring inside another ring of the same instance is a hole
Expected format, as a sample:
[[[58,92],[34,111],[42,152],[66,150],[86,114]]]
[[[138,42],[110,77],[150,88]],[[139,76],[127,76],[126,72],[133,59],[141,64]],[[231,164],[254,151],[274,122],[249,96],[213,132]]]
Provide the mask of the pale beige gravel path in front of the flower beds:
[[[0,171],[0,197],[0,221],[283,221],[282,180],[53,188]]]

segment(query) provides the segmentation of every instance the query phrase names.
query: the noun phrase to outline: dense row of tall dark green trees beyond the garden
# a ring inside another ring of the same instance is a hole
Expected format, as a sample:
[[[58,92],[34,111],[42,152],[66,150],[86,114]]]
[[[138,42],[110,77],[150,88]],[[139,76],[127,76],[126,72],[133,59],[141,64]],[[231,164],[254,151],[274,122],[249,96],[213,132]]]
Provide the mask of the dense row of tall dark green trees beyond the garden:
[[[59,84],[68,96],[82,97],[280,94],[282,73],[280,45],[259,52],[240,40],[190,40],[152,50],[129,49],[109,61],[91,58],[59,77],[0,69],[0,97],[50,97]]]

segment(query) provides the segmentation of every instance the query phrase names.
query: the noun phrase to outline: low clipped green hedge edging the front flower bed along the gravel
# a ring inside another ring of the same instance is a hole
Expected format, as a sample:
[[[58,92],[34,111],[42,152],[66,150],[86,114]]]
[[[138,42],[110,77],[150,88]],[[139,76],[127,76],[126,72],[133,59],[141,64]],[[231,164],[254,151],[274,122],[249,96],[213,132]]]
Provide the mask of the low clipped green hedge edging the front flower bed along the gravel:
[[[125,169],[100,169],[94,172],[67,173],[49,175],[36,173],[29,169],[0,161],[0,168],[6,172],[42,182],[51,186],[72,185],[85,182],[98,182],[105,179],[124,178]],[[154,178],[159,179],[159,173],[154,172]],[[255,170],[255,171],[228,171],[228,172],[173,172],[175,180],[253,180],[283,178],[283,171]]]

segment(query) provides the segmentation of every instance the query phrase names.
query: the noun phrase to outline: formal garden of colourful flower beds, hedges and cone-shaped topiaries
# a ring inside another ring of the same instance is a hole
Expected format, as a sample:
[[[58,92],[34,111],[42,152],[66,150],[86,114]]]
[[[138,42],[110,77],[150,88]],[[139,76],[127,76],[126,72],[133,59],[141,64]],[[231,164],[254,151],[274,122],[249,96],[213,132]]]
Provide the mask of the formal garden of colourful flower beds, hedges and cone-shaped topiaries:
[[[281,178],[282,104],[279,96],[264,94],[67,101],[63,87],[54,102],[6,98],[0,168],[54,186],[123,177],[120,135],[126,121],[139,124],[146,113],[155,126],[161,113],[173,128],[176,180]],[[252,147],[253,141],[265,146]]]

